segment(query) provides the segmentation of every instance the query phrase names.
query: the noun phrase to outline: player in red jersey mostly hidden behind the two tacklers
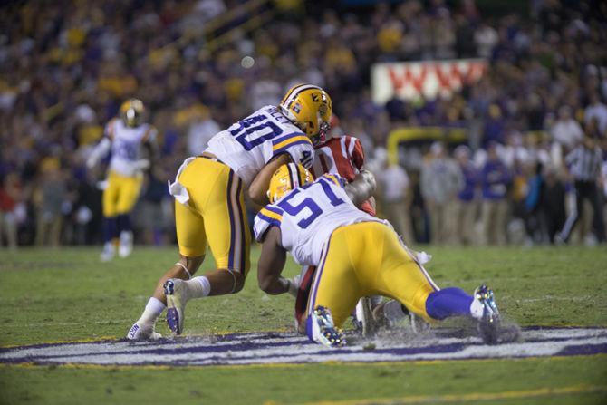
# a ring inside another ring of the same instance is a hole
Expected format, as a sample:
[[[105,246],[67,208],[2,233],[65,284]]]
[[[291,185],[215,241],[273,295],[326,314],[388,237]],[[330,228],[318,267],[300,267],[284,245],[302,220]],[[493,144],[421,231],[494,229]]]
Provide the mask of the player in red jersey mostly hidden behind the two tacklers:
[[[357,175],[372,176],[371,172],[362,169],[364,165],[364,149],[361,140],[349,135],[334,135],[334,130],[339,126],[338,118],[333,115],[331,128],[326,140],[314,145],[315,159],[310,171],[314,178],[324,173],[338,174],[347,182],[352,182]],[[375,216],[375,199],[369,198],[357,206],[364,212]],[[301,325],[302,317],[308,303],[308,295],[312,286],[313,275],[316,267],[304,268],[299,279],[299,289],[295,301],[295,319],[297,327]],[[364,331],[363,331],[364,333]]]

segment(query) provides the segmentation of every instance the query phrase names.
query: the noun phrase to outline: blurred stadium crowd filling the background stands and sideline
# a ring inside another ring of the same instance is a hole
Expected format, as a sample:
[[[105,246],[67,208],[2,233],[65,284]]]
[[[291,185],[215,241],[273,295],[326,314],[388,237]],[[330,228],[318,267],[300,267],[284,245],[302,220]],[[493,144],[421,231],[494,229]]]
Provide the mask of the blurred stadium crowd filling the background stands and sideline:
[[[482,14],[474,0],[334,9],[255,1],[271,20],[250,33],[248,14],[224,18],[243,3],[3,5],[0,246],[101,241],[96,184],[104,172],[84,161],[131,96],[147,106],[162,153],[135,211],[137,241],[171,243],[166,184],[178,164],[218,130],[277,104],[295,82],[332,96],[333,131],[361,139],[379,180],[380,212],[408,241],[548,244],[578,214],[573,241],[604,243],[604,3],[535,0],[523,16]],[[371,101],[372,63],[469,57],[487,58],[488,72],[450,99]],[[400,164],[389,162],[391,130],[427,126],[464,128],[467,141],[405,143]],[[583,179],[596,192],[576,201],[580,178],[565,158],[578,146],[601,149],[602,173]]]

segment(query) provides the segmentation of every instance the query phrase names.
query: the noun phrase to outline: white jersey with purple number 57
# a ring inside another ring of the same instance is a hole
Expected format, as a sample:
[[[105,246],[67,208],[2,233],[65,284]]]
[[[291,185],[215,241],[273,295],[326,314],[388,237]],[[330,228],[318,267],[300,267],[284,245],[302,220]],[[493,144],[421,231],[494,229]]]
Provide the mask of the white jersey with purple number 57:
[[[341,178],[325,174],[262,208],[253,228],[261,242],[270,227],[280,227],[282,246],[297,264],[320,265],[323,248],[336,228],[370,221],[384,222],[352,204]]]

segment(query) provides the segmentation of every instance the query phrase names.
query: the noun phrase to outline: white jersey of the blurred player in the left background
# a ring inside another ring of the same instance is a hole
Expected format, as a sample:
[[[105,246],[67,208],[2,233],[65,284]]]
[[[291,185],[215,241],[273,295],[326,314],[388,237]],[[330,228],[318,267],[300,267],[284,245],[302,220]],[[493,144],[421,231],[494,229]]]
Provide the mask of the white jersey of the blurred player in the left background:
[[[153,125],[147,123],[130,128],[119,119],[108,122],[105,135],[111,140],[110,169],[121,176],[136,175],[140,169],[135,162],[142,158],[142,145],[148,141],[154,142],[157,132]]]

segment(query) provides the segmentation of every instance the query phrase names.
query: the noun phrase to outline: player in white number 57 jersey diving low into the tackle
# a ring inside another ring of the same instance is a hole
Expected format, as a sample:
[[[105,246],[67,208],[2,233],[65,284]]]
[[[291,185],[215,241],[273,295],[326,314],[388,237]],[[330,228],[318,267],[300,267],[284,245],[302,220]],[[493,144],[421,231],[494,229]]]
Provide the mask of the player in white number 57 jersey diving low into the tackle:
[[[268,190],[272,204],[259,211],[254,230],[263,243],[257,275],[267,294],[291,288],[280,276],[286,252],[299,265],[318,266],[305,320],[313,342],[344,345],[340,327],[369,295],[394,298],[429,322],[474,317],[486,342],[497,342],[500,316],[486,285],[474,296],[454,287],[438,289],[387,221],[352,204],[341,178],[325,174],[311,183],[310,178],[294,164],[276,170]]]

